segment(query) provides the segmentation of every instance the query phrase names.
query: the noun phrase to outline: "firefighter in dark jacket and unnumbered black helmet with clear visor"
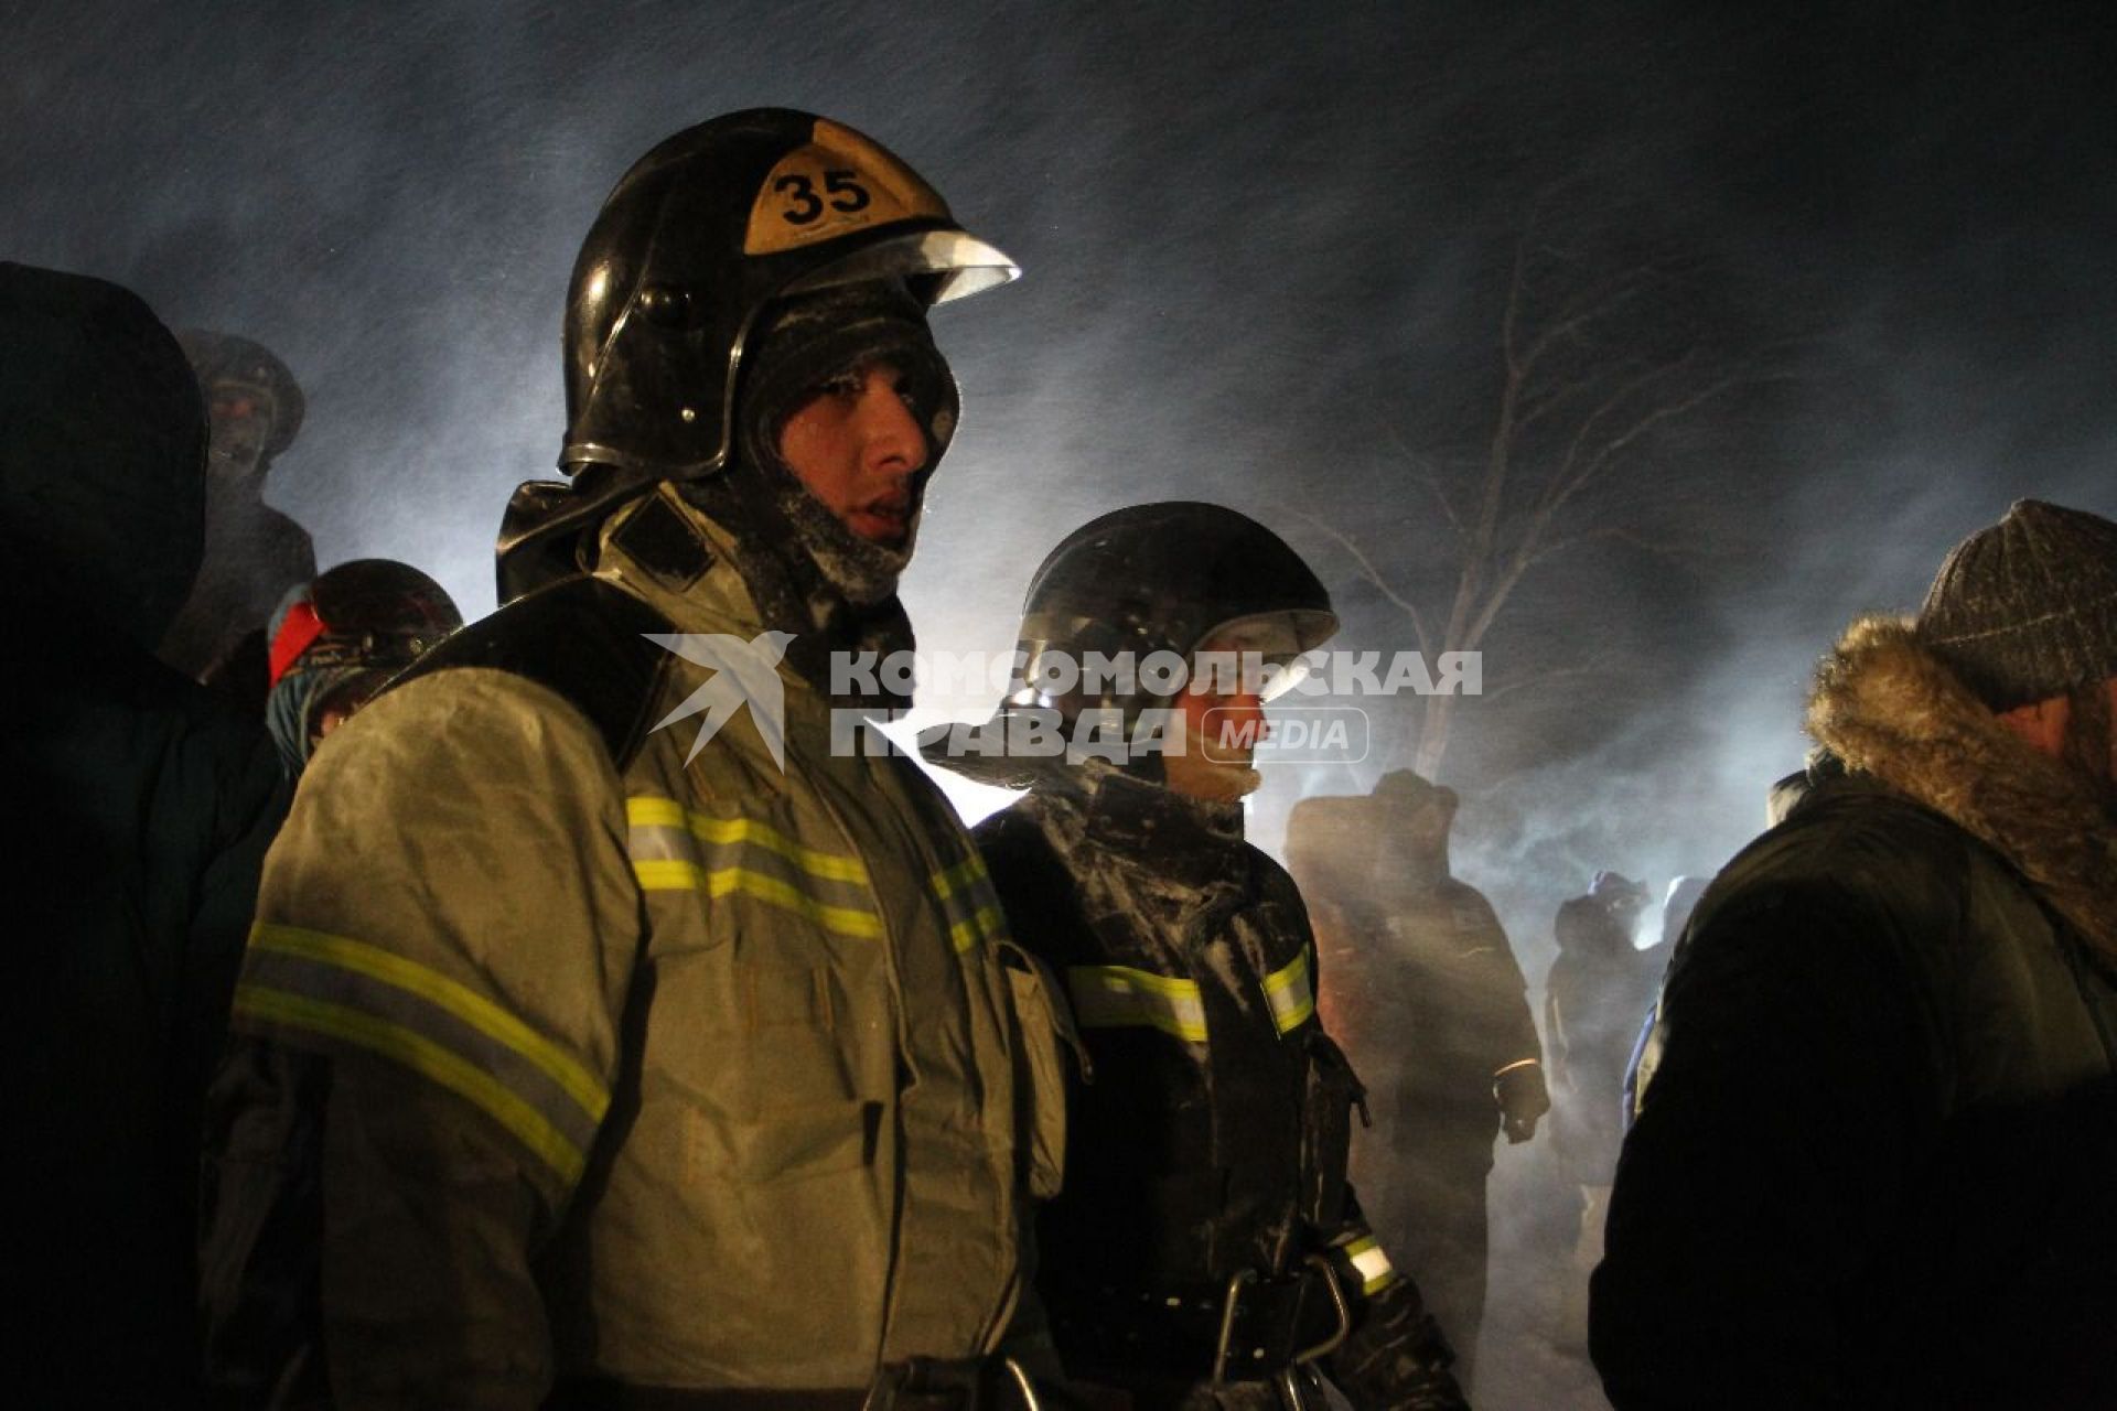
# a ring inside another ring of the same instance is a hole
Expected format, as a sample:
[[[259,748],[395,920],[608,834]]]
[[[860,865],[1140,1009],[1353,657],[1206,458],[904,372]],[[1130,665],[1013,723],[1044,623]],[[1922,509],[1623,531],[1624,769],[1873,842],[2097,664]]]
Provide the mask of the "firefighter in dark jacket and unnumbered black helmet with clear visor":
[[[1355,1407],[1463,1405],[1344,1180],[1359,1085],[1315,1018],[1302,899],[1243,842],[1266,690],[1247,668],[1336,626],[1264,525],[1211,503],[1118,510],[1031,580],[995,723],[925,740],[974,778],[1029,785],[976,836],[1016,935],[1065,975],[1090,1075],[1039,1288],[1067,1371],[1141,1409],[1321,1407],[1319,1373]],[[1082,673],[1097,656],[1135,671]],[[1192,662],[1192,683],[1160,690],[1156,658]],[[976,753],[1037,713],[1103,749]]]

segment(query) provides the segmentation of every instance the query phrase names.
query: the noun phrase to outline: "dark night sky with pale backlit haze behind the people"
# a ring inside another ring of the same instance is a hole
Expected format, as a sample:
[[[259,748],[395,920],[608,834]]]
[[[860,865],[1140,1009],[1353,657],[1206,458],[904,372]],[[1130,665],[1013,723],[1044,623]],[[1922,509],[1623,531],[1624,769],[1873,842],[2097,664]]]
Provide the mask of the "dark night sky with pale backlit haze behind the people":
[[[1770,374],[1584,506],[1626,533],[1524,580],[1486,677],[1531,683],[1465,702],[1440,770],[1459,872],[1541,977],[1594,867],[1660,886],[1755,831],[1850,616],[1914,607],[2015,497],[2117,514],[2098,19],[0,0],[0,258],[273,347],[309,408],[273,503],[320,563],[409,558],[476,616],[508,491],[553,474],[565,279],[612,182],[730,108],[843,118],[1025,269],[934,319],[965,421],[906,601],[957,652],[1012,643],[1067,529],[1164,497],[1272,523],[1344,645],[1410,645],[1329,531],[1440,582],[1408,468],[1476,463],[1524,222],[1579,277],[1681,269],[1613,336]],[[1274,778],[1260,842],[1408,759],[1376,736]]]

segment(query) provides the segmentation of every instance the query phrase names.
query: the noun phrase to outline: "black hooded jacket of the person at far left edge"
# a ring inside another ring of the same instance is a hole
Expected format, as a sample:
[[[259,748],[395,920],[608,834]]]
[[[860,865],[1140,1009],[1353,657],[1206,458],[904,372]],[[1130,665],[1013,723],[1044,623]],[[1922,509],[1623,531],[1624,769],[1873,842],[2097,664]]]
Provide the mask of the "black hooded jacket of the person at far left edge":
[[[150,656],[199,552],[203,410],[131,294],[0,264],[8,899],[0,1386],[197,1394],[199,1102],[284,808],[263,730]]]

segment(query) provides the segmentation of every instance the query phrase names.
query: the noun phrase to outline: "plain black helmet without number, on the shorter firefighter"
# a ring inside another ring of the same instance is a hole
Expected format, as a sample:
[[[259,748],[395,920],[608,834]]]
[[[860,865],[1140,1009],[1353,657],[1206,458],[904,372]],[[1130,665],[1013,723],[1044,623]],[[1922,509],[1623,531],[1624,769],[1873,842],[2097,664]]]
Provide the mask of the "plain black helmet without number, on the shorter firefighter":
[[[1139,668],[1156,654],[1188,664],[1211,643],[1287,666],[1336,630],[1308,563],[1247,514],[1196,499],[1114,510],[1061,539],[1031,575],[1008,694],[980,736],[1003,738],[1016,711],[1056,711],[1069,723],[1082,711],[1120,711],[1130,730],[1141,711],[1175,700]],[[1092,658],[1135,668],[1088,671]],[[1277,683],[1291,679],[1281,673]],[[921,747],[982,783],[1023,787],[1042,772],[1035,759],[955,751],[953,738],[959,732],[931,730]]]

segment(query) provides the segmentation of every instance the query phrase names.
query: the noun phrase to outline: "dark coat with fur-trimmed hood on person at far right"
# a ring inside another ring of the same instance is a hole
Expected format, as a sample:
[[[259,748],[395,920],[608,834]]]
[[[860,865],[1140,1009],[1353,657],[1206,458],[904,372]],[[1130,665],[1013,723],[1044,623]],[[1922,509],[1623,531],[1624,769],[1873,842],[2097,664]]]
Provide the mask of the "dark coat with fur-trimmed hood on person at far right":
[[[1624,1142],[1620,1411],[2117,1405],[2117,829],[1910,630],[1810,704],[1848,766],[1698,905]]]

